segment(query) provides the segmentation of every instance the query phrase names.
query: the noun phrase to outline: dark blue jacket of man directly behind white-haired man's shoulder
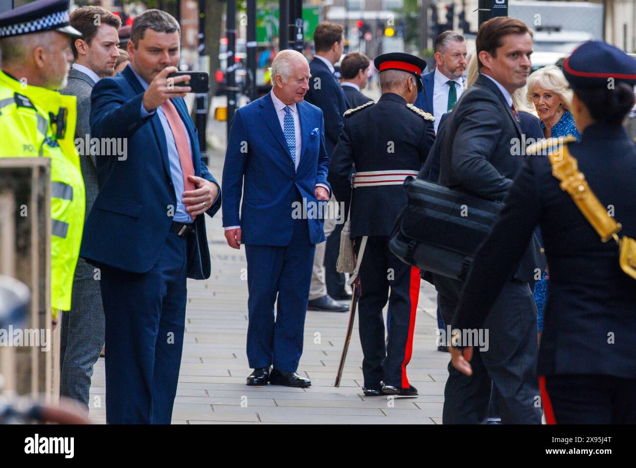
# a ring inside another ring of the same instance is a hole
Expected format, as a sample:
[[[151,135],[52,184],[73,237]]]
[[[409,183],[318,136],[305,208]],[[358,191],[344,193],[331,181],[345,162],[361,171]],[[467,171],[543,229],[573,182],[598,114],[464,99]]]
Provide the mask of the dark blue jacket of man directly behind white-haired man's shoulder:
[[[345,124],[343,114],[347,111],[347,97],[329,67],[321,60],[309,63],[312,77],[305,101],[321,108],[324,117],[324,137],[327,155],[331,158],[333,148],[338,145],[338,137]],[[318,89],[316,89],[316,87]]]

